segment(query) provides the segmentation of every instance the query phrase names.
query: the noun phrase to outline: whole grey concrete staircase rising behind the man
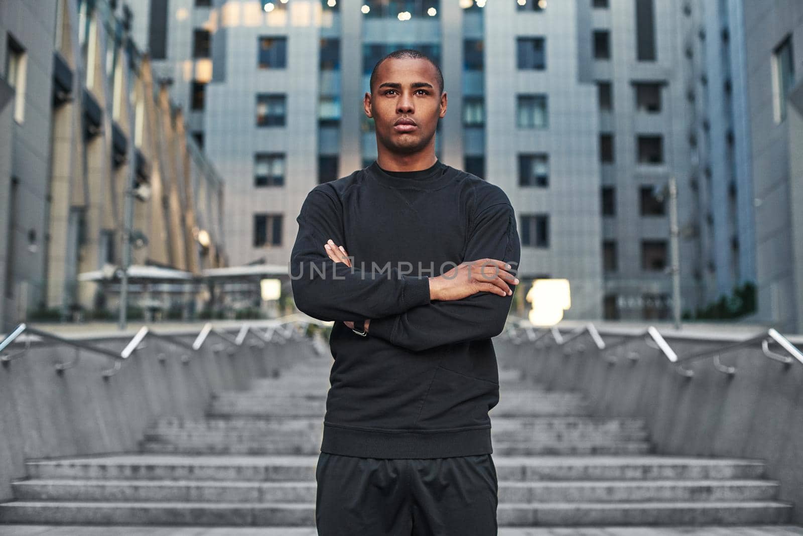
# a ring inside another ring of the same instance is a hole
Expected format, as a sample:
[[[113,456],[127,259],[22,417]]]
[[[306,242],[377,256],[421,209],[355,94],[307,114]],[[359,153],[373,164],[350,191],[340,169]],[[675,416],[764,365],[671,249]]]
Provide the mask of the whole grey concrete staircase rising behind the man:
[[[166,417],[141,453],[29,460],[0,522],[314,526],[330,361],[300,363],[206,418]],[[789,522],[756,460],[651,453],[639,420],[590,416],[582,396],[500,371],[491,410],[499,526],[757,525]]]

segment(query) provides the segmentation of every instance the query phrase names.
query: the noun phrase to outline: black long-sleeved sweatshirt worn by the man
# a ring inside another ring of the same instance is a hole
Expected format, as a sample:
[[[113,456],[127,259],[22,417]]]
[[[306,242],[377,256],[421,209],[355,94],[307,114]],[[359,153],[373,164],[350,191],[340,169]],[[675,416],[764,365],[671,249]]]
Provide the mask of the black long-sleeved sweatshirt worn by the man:
[[[518,273],[516,216],[503,190],[440,161],[398,173],[374,160],[317,185],[296,221],[296,307],[335,321],[321,452],[492,453],[488,411],[499,402],[499,374],[491,337],[503,330],[512,295],[430,301],[429,278],[481,258]],[[329,238],[352,267],[328,258]],[[365,336],[343,323],[361,329],[363,319],[371,319]]]

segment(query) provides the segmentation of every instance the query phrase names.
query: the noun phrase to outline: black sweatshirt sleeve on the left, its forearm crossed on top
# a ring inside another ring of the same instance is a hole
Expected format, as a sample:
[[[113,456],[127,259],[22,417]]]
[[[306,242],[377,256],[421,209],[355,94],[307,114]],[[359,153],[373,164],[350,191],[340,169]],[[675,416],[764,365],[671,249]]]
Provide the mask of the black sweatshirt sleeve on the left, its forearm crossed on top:
[[[290,279],[299,311],[324,322],[348,321],[397,315],[430,303],[426,276],[405,275],[397,268],[368,272],[329,258],[324,250],[329,238],[347,250],[348,246],[341,205],[328,193],[312,189],[296,221]]]

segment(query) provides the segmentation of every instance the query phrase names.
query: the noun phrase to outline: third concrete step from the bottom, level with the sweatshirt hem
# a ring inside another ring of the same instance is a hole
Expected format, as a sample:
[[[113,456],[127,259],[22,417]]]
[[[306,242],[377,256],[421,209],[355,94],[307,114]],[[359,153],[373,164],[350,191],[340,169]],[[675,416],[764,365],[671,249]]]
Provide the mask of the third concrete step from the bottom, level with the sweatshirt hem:
[[[764,463],[740,458],[640,456],[502,456],[499,481],[752,480]],[[318,453],[304,456],[195,457],[147,453],[26,461],[30,478],[315,481]]]

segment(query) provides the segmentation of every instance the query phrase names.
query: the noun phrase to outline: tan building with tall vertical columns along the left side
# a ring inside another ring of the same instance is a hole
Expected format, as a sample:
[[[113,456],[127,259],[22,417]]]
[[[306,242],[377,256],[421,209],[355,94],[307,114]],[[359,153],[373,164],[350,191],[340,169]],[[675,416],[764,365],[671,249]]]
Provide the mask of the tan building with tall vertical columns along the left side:
[[[128,264],[226,266],[221,177],[128,40],[130,23],[112,0],[0,2],[2,332],[114,318],[127,206]]]

